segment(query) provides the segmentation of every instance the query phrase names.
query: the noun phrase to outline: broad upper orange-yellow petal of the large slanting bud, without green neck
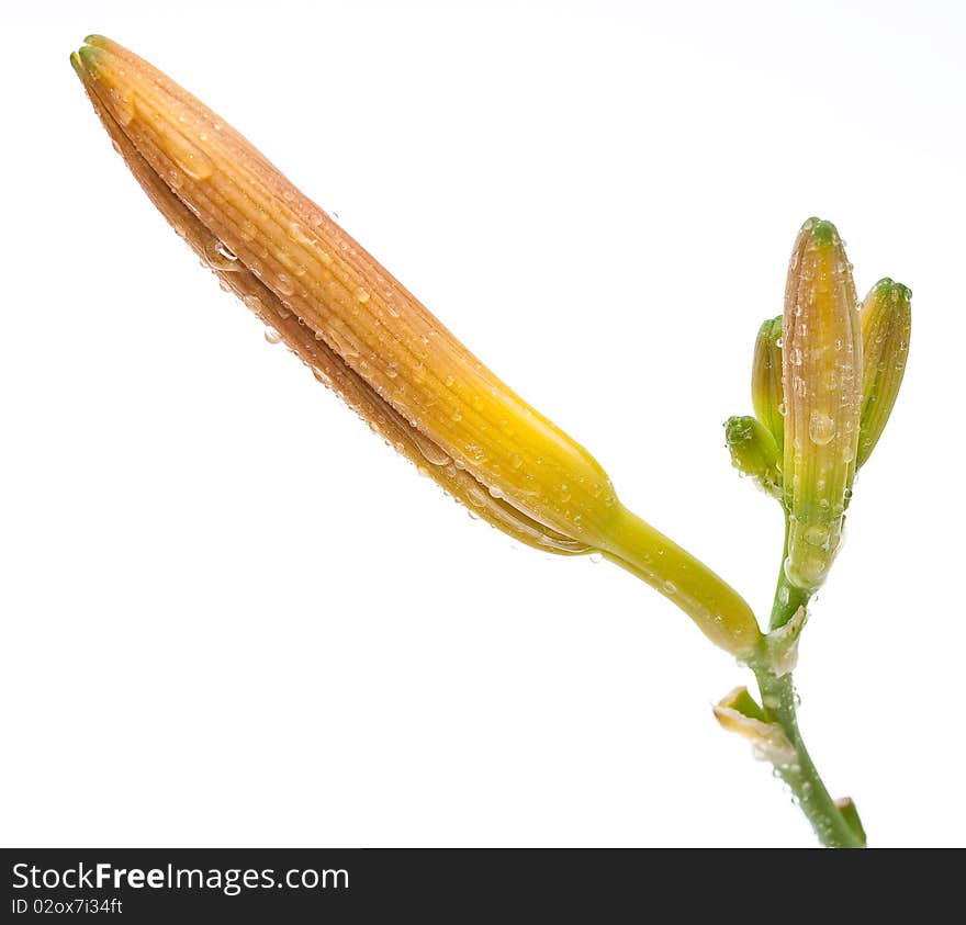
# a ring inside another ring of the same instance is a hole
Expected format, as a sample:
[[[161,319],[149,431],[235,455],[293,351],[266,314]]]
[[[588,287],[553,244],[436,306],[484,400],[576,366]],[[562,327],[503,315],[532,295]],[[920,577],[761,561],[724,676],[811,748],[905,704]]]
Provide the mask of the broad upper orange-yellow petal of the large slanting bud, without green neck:
[[[99,106],[148,168],[284,312],[438,448],[431,456],[551,530],[586,546],[605,543],[617,498],[583,447],[215,113],[109,40],[91,36],[79,57]]]

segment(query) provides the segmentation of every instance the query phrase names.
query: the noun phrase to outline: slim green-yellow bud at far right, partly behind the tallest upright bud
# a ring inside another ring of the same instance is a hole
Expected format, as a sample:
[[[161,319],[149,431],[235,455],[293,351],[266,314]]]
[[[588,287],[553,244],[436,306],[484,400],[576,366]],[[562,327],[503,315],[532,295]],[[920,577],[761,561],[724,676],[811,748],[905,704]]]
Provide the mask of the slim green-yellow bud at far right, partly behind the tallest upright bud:
[[[860,318],[863,371],[856,466],[872,455],[902,384],[912,330],[912,293],[901,283],[879,280],[865,297]]]

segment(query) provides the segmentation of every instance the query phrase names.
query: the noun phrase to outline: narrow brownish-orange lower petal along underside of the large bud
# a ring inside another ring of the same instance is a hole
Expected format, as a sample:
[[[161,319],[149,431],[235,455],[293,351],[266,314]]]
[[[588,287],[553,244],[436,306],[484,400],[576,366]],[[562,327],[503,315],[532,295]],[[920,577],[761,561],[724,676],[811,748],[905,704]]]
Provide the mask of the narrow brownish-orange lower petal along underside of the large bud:
[[[520,542],[548,552],[563,554],[588,552],[585,544],[537,523],[506,501],[492,497],[469,472],[453,465],[452,460],[438,445],[411,427],[392,406],[373,392],[364,380],[352,372],[338,354],[316,338],[308,327],[300,323],[299,318],[282,305],[278,296],[240,263],[237,257],[232,259],[234,255],[231,251],[226,252],[218,238],[204,227],[151,170],[114,119],[100,104],[98,97],[93,93],[89,95],[117,151],[158,211],[214,273],[266,325],[279,332],[284,343],[312,370],[319,382],[336,392],[406,459],[494,527]]]

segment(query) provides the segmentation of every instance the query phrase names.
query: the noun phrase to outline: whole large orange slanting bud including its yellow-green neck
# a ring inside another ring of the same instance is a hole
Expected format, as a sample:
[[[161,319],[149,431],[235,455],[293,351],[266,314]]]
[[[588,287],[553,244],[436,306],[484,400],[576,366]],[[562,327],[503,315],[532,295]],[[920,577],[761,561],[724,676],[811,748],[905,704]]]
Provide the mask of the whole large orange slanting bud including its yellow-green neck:
[[[86,42],[71,64],[142,188],[316,379],[494,527],[549,552],[600,550],[722,648],[757,647],[737,591],[624,507],[583,447],[240,134],[126,48]]]

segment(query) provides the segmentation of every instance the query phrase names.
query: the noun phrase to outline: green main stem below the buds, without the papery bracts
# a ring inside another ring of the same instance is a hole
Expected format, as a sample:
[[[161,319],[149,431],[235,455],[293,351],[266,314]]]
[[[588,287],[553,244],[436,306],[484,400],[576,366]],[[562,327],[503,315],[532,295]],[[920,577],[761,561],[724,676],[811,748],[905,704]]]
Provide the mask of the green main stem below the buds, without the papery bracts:
[[[782,569],[775,589],[770,625],[773,630],[784,627],[798,611],[808,605],[809,595],[794,587],[785,576],[785,556],[788,553],[788,522],[785,523],[785,545],[782,552]],[[830,796],[811,756],[805,747],[796,717],[796,697],[791,675],[777,677],[767,666],[754,665],[755,677],[762,692],[762,706],[772,722],[777,723],[795,749],[795,758],[788,764],[776,765],[782,780],[791,789],[793,797],[811,823],[819,841],[828,848],[864,848],[865,833],[858,816],[851,822],[843,815]],[[853,809],[854,814],[854,809]]]

